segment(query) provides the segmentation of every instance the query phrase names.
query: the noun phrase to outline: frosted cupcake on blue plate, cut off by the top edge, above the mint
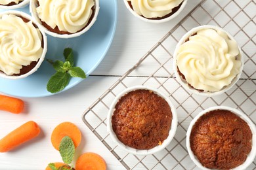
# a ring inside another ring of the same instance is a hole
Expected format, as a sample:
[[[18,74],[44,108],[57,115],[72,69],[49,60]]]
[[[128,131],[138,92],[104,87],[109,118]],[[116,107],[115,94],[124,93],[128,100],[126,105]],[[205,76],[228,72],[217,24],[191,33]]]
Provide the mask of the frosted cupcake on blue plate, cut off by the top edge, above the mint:
[[[32,0],[32,16],[53,37],[70,38],[85,33],[95,23],[98,0]]]

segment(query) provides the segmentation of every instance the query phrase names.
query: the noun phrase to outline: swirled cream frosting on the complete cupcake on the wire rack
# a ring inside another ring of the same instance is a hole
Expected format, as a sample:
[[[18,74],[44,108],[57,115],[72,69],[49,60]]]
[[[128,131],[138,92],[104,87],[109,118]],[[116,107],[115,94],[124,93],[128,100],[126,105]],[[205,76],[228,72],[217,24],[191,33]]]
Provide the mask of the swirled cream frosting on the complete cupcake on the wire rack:
[[[217,92],[240,72],[239,55],[237,42],[226,33],[202,29],[179,47],[177,67],[193,88]]]

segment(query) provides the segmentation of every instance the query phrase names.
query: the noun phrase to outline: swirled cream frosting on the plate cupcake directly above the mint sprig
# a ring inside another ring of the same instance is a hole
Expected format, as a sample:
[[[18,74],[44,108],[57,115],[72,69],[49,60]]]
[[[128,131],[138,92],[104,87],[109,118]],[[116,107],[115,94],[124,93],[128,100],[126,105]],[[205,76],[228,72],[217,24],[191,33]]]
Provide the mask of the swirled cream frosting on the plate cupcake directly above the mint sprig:
[[[51,28],[76,33],[93,14],[93,0],[38,0],[37,14]]]

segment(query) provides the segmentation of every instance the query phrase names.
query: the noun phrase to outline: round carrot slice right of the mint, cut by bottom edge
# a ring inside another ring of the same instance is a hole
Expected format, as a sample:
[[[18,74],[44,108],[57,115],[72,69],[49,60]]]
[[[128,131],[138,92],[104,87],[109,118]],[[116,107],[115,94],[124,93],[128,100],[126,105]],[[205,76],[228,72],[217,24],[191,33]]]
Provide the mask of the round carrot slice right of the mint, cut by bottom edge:
[[[106,170],[106,162],[98,154],[87,152],[79,156],[75,163],[75,170]]]

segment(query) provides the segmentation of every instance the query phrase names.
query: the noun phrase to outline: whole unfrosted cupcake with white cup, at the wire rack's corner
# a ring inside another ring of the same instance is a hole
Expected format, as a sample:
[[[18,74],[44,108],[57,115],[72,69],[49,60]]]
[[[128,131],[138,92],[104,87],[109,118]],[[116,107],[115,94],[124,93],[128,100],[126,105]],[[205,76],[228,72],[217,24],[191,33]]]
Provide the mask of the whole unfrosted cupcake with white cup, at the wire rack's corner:
[[[113,141],[131,154],[159,152],[173,139],[177,113],[168,96],[148,86],[133,86],[114,99],[107,117]]]

